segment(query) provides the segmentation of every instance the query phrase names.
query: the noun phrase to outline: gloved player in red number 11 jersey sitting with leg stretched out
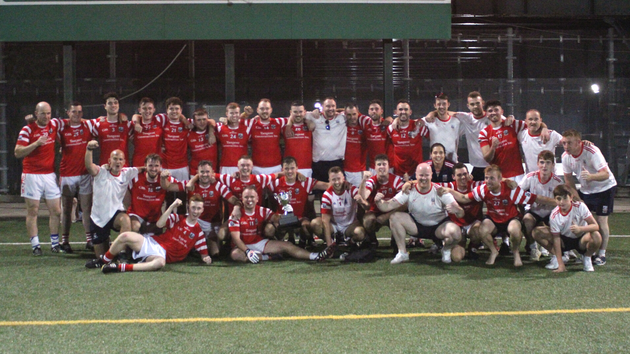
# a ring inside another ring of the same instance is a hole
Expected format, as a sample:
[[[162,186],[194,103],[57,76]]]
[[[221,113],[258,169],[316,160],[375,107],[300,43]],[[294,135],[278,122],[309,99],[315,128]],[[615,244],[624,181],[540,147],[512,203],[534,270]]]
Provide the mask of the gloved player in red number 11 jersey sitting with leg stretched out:
[[[330,246],[320,253],[311,253],[292,243],[263,239],[261,236],[263,224],[271,222],[267,225],[269,228],[273,227],[272,224],[277,224],[280,216],[268,208],[259,207],[256,203],[258,203],[256,186],[249,185],[243,188],[243,212],[235,206],[229,221],[232,260],[258,263],[261,260],[268,260],[270,254],[288,253],[301,260],[323,261],[331,255],[333,248]]]

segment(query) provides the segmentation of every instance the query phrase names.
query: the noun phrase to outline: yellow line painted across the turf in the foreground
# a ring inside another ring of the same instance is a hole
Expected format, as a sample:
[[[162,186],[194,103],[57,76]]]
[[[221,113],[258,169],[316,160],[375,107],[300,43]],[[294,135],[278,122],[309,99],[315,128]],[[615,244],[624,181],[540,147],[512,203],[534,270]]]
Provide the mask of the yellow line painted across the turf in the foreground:
[[[518,316],[548,314],[583,314],[592,312],[630,312],[630,307],[607,309],[559,309],[536,311],[488,311],[488,312],[424,312],[415,314],[326,315],[285,317],[195,317],[195,318],[138,318],[138,319],[77,319],[72,321],[0,321],[0,326],[57,326],[64,324],[98,323],[190,323],[190,322],[255,322],[255,321],[302,321],[307,319],[374,319],[406,317],[462,317],[462,316]]]

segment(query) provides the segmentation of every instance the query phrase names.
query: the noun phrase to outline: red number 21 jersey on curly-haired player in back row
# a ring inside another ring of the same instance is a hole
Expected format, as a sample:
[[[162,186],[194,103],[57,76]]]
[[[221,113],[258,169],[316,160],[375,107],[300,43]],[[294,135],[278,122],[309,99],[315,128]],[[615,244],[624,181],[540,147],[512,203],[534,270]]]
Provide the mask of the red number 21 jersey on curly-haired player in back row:
[[[164,144],[164,168],[178,169],[188,166],[188,128],[178,120],[171,122],[164,113],[156,115],[162,123],[162,144]]]

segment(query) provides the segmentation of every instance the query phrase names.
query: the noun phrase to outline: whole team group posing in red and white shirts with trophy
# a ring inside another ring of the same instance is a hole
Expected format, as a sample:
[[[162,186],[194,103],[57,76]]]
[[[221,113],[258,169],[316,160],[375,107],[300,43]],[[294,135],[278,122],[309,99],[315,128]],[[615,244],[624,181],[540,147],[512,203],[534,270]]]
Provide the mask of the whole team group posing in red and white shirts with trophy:
[[[253,108],[229,103],[224,117],[203,109],[185,117],[180,98],[159,114],[142,98],[127,117],[107,93],[103,117],[87,118],[76,101],[64,118],[37,103],[14,150],[33,256],[44,252],[43,198],[50,251],[74,252],[80,211],[95,254],[85,266],[103,273],[159,270],[193,249],[207,265],[371,261],[382,227],[391,230],[392,265],[426,240],[444,263],[605,265],[617,183],[598,147],[577,130],[547,127],[536,109],[518,120],[479,92],[466,100],[468,111],[450,111],[439,93],[434,110],[414,113],[407,100],[389,112],[379,100],[359,110],[329,97],[313,111],[296,101],[273,114],[263,98]],[[462,135],[467,164],[457,155]],[[113,242],[112,231],[120,232]]]

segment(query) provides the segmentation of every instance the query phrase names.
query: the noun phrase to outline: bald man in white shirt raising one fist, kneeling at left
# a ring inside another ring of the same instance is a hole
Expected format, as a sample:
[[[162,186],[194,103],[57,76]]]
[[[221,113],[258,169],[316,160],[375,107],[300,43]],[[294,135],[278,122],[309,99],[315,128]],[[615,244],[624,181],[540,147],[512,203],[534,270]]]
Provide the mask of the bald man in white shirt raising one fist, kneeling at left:
[[[125,214],[122,200],[127,192],[129,183],[138,176],[144,167],[125,168],[125,154],[121,150],[114,150],[110,154],[108,164],[98,166],[93,163],[92,151],[98,147],[98,142],[88,142],[85,152],[85,167],[94,177],[92,213],[90,215],[92,228],[92,244],[96,259],[88,261],[86,268],[101,268],[105,254],[110,246],[110,232],[131,231],[129,215]]]

